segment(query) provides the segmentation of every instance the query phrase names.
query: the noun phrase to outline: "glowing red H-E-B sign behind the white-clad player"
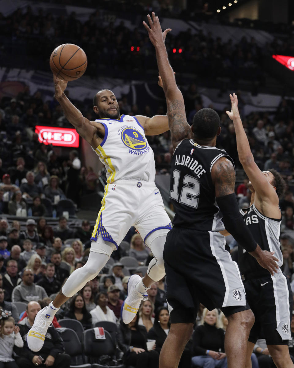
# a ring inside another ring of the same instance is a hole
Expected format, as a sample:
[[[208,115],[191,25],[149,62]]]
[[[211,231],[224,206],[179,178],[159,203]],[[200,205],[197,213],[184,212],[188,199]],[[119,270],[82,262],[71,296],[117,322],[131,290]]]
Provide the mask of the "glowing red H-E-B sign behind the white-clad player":
[[[36,125],[35,133],[39,136],[39,142],[52,144],[53,146],[78,147],[79,135],[75,129],[44,127]]]

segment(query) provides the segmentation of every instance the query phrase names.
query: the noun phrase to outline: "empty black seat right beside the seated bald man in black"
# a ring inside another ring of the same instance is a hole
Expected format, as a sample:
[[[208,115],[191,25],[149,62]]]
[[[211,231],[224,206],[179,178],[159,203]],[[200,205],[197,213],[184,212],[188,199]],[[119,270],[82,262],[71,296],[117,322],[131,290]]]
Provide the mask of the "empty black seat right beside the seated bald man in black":
[[[91,368],[91,364],[86,363],[86,357],[82,353],[82,344],[78,338],[77,333],[70,328],[57,328],[65,353],[70,355],[70,368]]]

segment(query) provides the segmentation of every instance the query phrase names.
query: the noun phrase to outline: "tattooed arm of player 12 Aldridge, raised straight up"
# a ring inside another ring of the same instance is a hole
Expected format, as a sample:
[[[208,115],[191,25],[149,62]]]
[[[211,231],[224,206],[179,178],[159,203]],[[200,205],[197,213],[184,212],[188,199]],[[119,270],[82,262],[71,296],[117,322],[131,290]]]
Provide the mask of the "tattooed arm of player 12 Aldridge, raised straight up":
[[[175,149],[183,139],[192,138],[192,131],[190,125],[187,123],[183,95],[176,84],[174,72],[170,66],[164,45],[166,34],[171,29],[166,29],[162,32],[158,17],[155,16],[154,12],[152,12],[152,19],[149,14],[147,17],[150,28],[146,22],[143,22],[143,24],[148,31],[150,41],[155,47],[159,75],[162,79],[163,90],[166,96],[171,143]]]

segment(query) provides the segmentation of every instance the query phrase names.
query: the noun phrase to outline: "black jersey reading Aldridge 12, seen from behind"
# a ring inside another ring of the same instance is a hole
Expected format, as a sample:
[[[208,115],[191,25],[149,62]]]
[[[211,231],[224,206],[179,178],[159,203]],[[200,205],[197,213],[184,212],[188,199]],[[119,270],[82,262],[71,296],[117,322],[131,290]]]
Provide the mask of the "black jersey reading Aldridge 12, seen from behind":
[[[201,231],[224,230],[211,178],[213,164],[223,156],[233,163],[222,149],[203,147],[192,139],[178,144],[171,161],[170,180],[170,200],[176,212],[174,226]]]

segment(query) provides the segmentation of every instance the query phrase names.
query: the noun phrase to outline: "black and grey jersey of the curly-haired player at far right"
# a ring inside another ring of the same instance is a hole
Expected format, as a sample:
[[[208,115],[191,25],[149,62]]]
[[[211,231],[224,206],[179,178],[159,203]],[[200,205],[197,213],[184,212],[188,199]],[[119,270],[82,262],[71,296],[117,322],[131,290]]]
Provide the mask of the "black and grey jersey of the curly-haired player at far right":
[[[282,219],[276,220],[262,215],[254,204],[248,208],[247,212],[246,209],[240,212],[256,243],[262,250],[275,252],[274,256],[279,259],[277,263],[280,267],[283,264],[283,255],[279,242]],[[238,262],[243,275],[248,275],[248,273],[268,274],[268,271],[240,246],[238,248]]]

